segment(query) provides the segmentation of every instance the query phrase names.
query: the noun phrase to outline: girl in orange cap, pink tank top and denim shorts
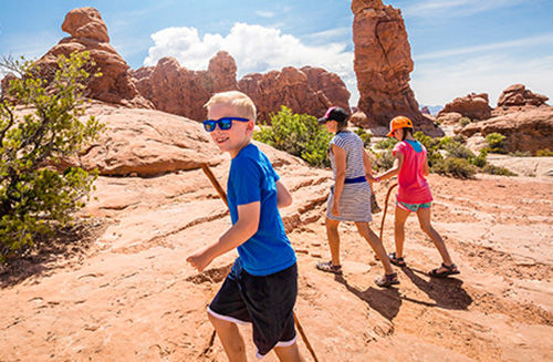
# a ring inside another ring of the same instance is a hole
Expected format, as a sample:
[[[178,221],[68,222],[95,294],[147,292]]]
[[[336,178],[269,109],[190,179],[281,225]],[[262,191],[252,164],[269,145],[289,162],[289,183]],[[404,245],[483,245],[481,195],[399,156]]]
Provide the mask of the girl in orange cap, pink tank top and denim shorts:
[[[420,228],[430,237],[444,260],[439,268],[431,270],[428,275],[436,278],[458,275],[459,270],[451,261],[446,244],[430,224],[432,195],[425,178],[428,176],[426,148],[413,137],[413,122],[409,118],[397,116],[392,120],[389,128],[388,137],[395,137],[399,141],[393,151],[396,157],[394,167],[375,177],[376,180],[380,180],[398,175],[399,189],[394,223],[396,252],[388,255],[389,260],[398,267],[406,266],[403,256],[405,221],[410,213],[417,213]]]

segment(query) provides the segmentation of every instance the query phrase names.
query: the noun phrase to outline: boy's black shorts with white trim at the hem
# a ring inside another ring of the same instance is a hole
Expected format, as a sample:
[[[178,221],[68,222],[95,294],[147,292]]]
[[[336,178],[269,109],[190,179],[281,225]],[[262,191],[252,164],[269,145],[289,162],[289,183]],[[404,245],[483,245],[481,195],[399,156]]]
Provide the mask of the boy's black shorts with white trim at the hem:
[[[234,323],[251,322],[258,356],[274,347],[295,342],[293,309],[298,296],[298,265],[258,277],[248,273],[237,260],[208,312]]]

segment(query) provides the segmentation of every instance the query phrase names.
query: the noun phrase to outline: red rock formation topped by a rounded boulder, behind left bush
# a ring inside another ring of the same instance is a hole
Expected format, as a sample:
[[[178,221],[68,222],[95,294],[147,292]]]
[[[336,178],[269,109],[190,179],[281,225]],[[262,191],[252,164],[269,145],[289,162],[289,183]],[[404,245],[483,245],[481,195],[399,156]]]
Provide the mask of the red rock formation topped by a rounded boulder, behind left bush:
[[[152,107],[152,103],[138,93],[128,73],[128,64],[109,44],[107,27],[96,9],[79,8],[70,11],[65,15],[62,30],[71,37],[62,39],[36,61],[44,77],[52,76],[59,55],[69,56],[74,51],[88,51],[103,75],[88,83],[87,96],[108,103]]]

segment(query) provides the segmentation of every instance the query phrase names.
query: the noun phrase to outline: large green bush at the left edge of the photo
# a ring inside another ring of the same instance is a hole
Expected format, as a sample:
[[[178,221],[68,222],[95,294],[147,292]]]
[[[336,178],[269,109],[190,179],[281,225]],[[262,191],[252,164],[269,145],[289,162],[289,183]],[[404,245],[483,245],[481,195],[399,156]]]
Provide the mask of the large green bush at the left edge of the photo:
[[[79,120],[91,64],[88,53],[62,55],[46,81],[30,61],[0,63],[21,75],[0,97],[0,262],[30,250],[36,236],[72,221],[92,188],[96,172],[51,167],[102,130],[93,116],[84,124]],[[34,111],[21,118],[15,105]]]

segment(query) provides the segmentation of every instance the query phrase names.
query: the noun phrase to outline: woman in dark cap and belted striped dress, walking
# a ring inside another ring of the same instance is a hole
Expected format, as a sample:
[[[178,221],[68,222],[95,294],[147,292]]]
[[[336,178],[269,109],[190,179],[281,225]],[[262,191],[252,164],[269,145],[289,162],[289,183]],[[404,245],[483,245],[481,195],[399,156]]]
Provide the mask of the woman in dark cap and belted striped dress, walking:
[[[392,269],[380,239],[368,226],[373,217],[371,185],[367,179],[375,180],[371,161],[359,136],[346,130],[347,118],[348,114],[336,106],[328,108],[324,117],[319,118],[319,123],[324,124],[335,136],[331,141],[330,149],[334,186],[328,196],[325,221],[332,260],[319,262],[316,268],[336,275],[342,273],[338,225],[341,221],[354,221],[361,236],[367,240],[384,266],[385,275],[375,280],[376,285],[389,287],[399,283],[397,273]]]

